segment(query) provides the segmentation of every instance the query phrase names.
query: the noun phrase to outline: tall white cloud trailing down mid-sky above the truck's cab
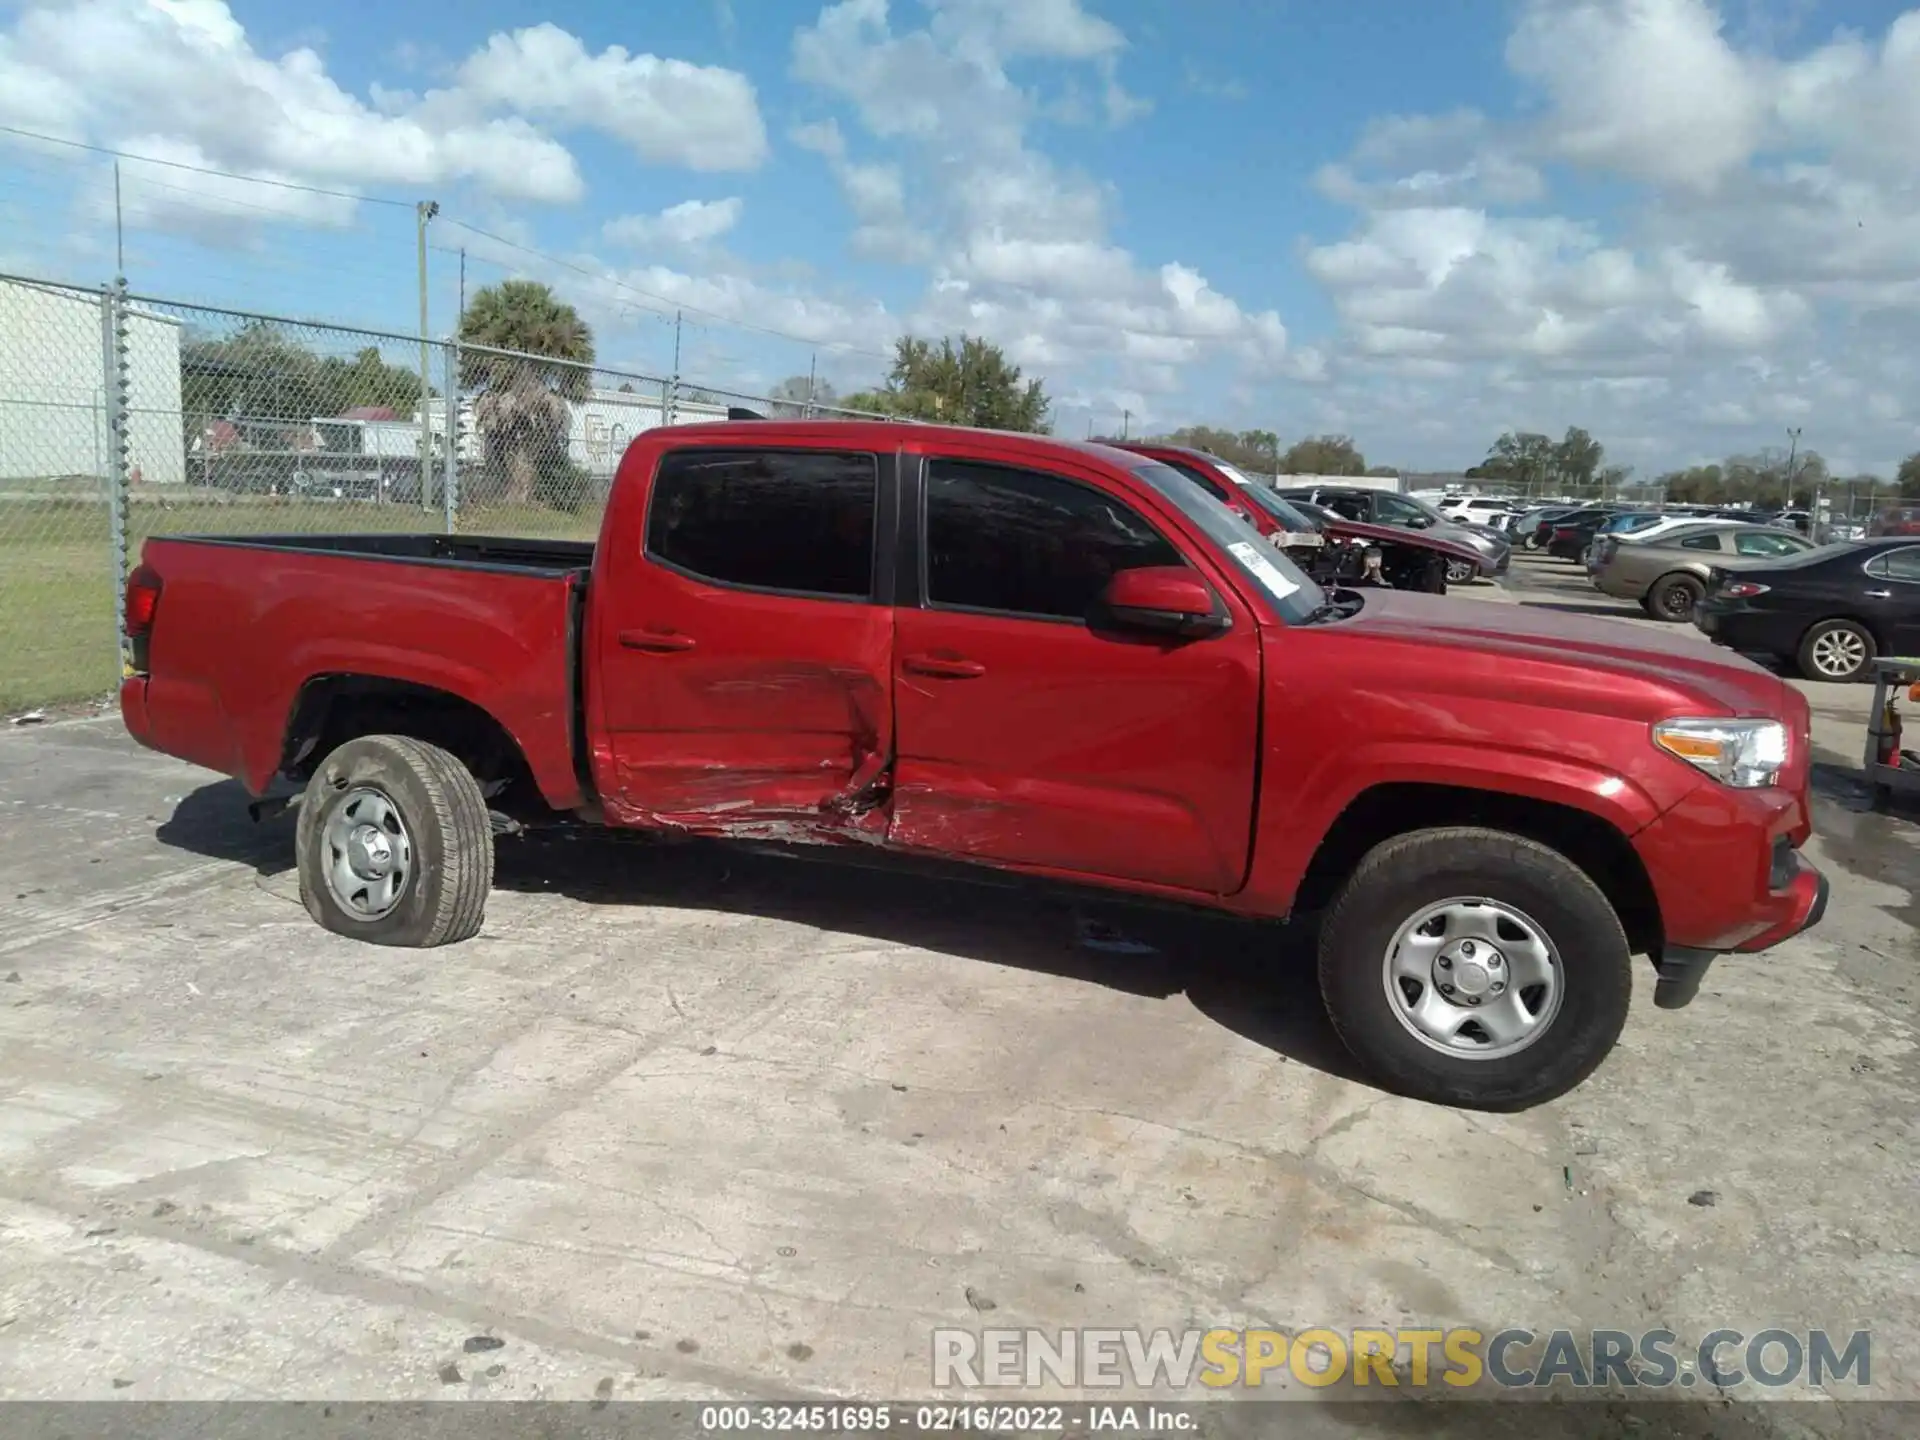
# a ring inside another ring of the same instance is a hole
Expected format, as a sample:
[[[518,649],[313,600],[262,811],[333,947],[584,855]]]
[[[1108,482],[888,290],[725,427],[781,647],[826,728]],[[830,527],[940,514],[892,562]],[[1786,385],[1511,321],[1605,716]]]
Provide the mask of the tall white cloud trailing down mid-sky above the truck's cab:
[[[799,79],[851,106],[874,142],[912,154],[904,167],[858,163],[831,121],[793,136],[833,167],[862,232],[899,236],[908,215],[924,217],[910,252],[933,282],[910,324],[985,334],[1056,386],[1089,392],[1098,372],[1116,396],[1179,388],[1181,367],[1213,359],[1277,365],[1277,315],[1244,311],[1187,265],[1140,265],[1108,236],[1108,188],[1027,140],[1046,106],[1010,65],[1091,65],[1114,117],[1133,104],[1117,84],[1119,29],[1079,0],[937,0],[931,12],[902,31],[883,0],[841,0],[793,44]]]

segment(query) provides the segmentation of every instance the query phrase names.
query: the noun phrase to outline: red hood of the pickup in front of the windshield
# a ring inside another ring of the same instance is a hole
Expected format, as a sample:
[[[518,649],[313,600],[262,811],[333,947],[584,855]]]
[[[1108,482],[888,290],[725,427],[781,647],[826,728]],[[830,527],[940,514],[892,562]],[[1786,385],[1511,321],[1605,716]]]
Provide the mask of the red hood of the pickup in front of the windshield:
[[[1569,708],[1638,710],[1642,703],[1626,699],[1638,693],[1667,708],[1676,701],[1705,701],[1724,714],[1793,714],[1791,687],[1770,670],[1695,636],[1624,620],[1369,589],[1359,614],[1329,628],[1407,641],[1423,651],[1471,651],[1476,660],[1500,666],[1515,685],[1526,685],[1530,674],[1544,689],[1563,693]],[[1440,657],[1438,668],[1480,668],[1463,666],[1463,659]]]

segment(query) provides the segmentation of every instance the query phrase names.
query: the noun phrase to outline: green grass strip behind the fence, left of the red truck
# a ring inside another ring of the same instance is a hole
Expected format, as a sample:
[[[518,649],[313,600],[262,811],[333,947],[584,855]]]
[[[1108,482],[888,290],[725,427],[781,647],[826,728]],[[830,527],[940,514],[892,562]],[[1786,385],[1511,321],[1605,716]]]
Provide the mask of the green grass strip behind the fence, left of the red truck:
[[[0,482],[0,714],[84,701],[119,684],[109,520],[92,488]],[[129,555],[165,534],[328,534],[445,528],[438,511],[311,499],[230,499],[207,492],[140,495],[129,507]],[[461,515],[470,534],[580,538],[599,513],[495,505]]]

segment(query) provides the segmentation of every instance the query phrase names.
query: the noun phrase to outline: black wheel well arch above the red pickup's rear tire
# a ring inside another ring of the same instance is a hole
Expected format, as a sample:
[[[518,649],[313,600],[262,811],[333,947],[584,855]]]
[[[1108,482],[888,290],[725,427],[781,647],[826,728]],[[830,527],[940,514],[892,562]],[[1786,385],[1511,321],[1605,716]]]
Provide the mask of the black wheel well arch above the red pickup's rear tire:
[[[319,676],[300,689],[286,724],[280,774],[305,781],[359,735],[409,735],[465,764],[493,808],[543,808],[532,768],[507,728],[468,699],[386,676]]]

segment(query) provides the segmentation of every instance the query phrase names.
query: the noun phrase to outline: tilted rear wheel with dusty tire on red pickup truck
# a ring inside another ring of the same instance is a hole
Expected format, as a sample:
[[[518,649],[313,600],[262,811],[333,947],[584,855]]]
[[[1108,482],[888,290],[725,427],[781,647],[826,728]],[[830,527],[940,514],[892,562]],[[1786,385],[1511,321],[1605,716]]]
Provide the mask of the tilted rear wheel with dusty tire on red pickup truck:
[[[493,889],[493,826],[478,781],[407,735],[361,735],[321,760],[294,852],[307,914],[369,945],[470,939]]]

